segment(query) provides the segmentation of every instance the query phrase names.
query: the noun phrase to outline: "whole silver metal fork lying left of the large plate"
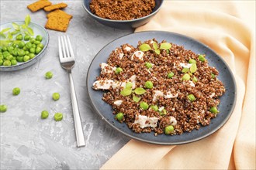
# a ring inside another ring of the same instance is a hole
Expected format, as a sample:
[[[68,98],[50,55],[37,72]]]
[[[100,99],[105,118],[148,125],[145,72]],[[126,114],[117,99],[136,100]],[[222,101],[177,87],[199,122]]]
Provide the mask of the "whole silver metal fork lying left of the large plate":
[[[71,41],[68,36],[59,36],[59,56],[62,68],[67,70],[71,87],[71,100],[74,115],[74,130],[77,138],[78,147],[85,146],[85,137],[81,127],[81,117],[78,109],[78,101],[74,90],[74,81],[71,69],[74,66],[74,52],[71,47]]]

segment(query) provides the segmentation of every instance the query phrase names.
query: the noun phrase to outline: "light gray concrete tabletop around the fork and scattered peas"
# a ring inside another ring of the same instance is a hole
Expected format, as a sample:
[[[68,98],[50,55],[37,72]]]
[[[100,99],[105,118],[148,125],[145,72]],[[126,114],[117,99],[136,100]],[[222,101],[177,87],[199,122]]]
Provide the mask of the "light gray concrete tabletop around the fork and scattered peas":
[[[47,13],[30,12],[26,6],[35,1],[1,0],[1,23],[23,20],[30,15],[32,22],[44,26]],[[26,69],[0,72],[1,104],[8,110],[0,114],[1,169],[99,169],[129,141],[123,134],[110,128],[92,109],[86,91],[88,66],[96,53],[108,42],[133,30],[119,30],[102,26],[89,18],[81,1],[66,2],[65,12],[73,15],[67,32],[48,30],[50,43],[47,53],[39,62]],[[78,94],[81,121],[86,146],[76,147],[74,121],[68,77],[58,59],[57,37],[69,35],[76,56],[73,70]],[[44,78],[52,71],[54,77]],[[12,88],[19,87],[19,96],[12,96]],[[61,99],[54,101],[52,93]],[[40,118],[42,110],[50,115]],[[54,113],[64,114],[63,121],[54,121]]]

